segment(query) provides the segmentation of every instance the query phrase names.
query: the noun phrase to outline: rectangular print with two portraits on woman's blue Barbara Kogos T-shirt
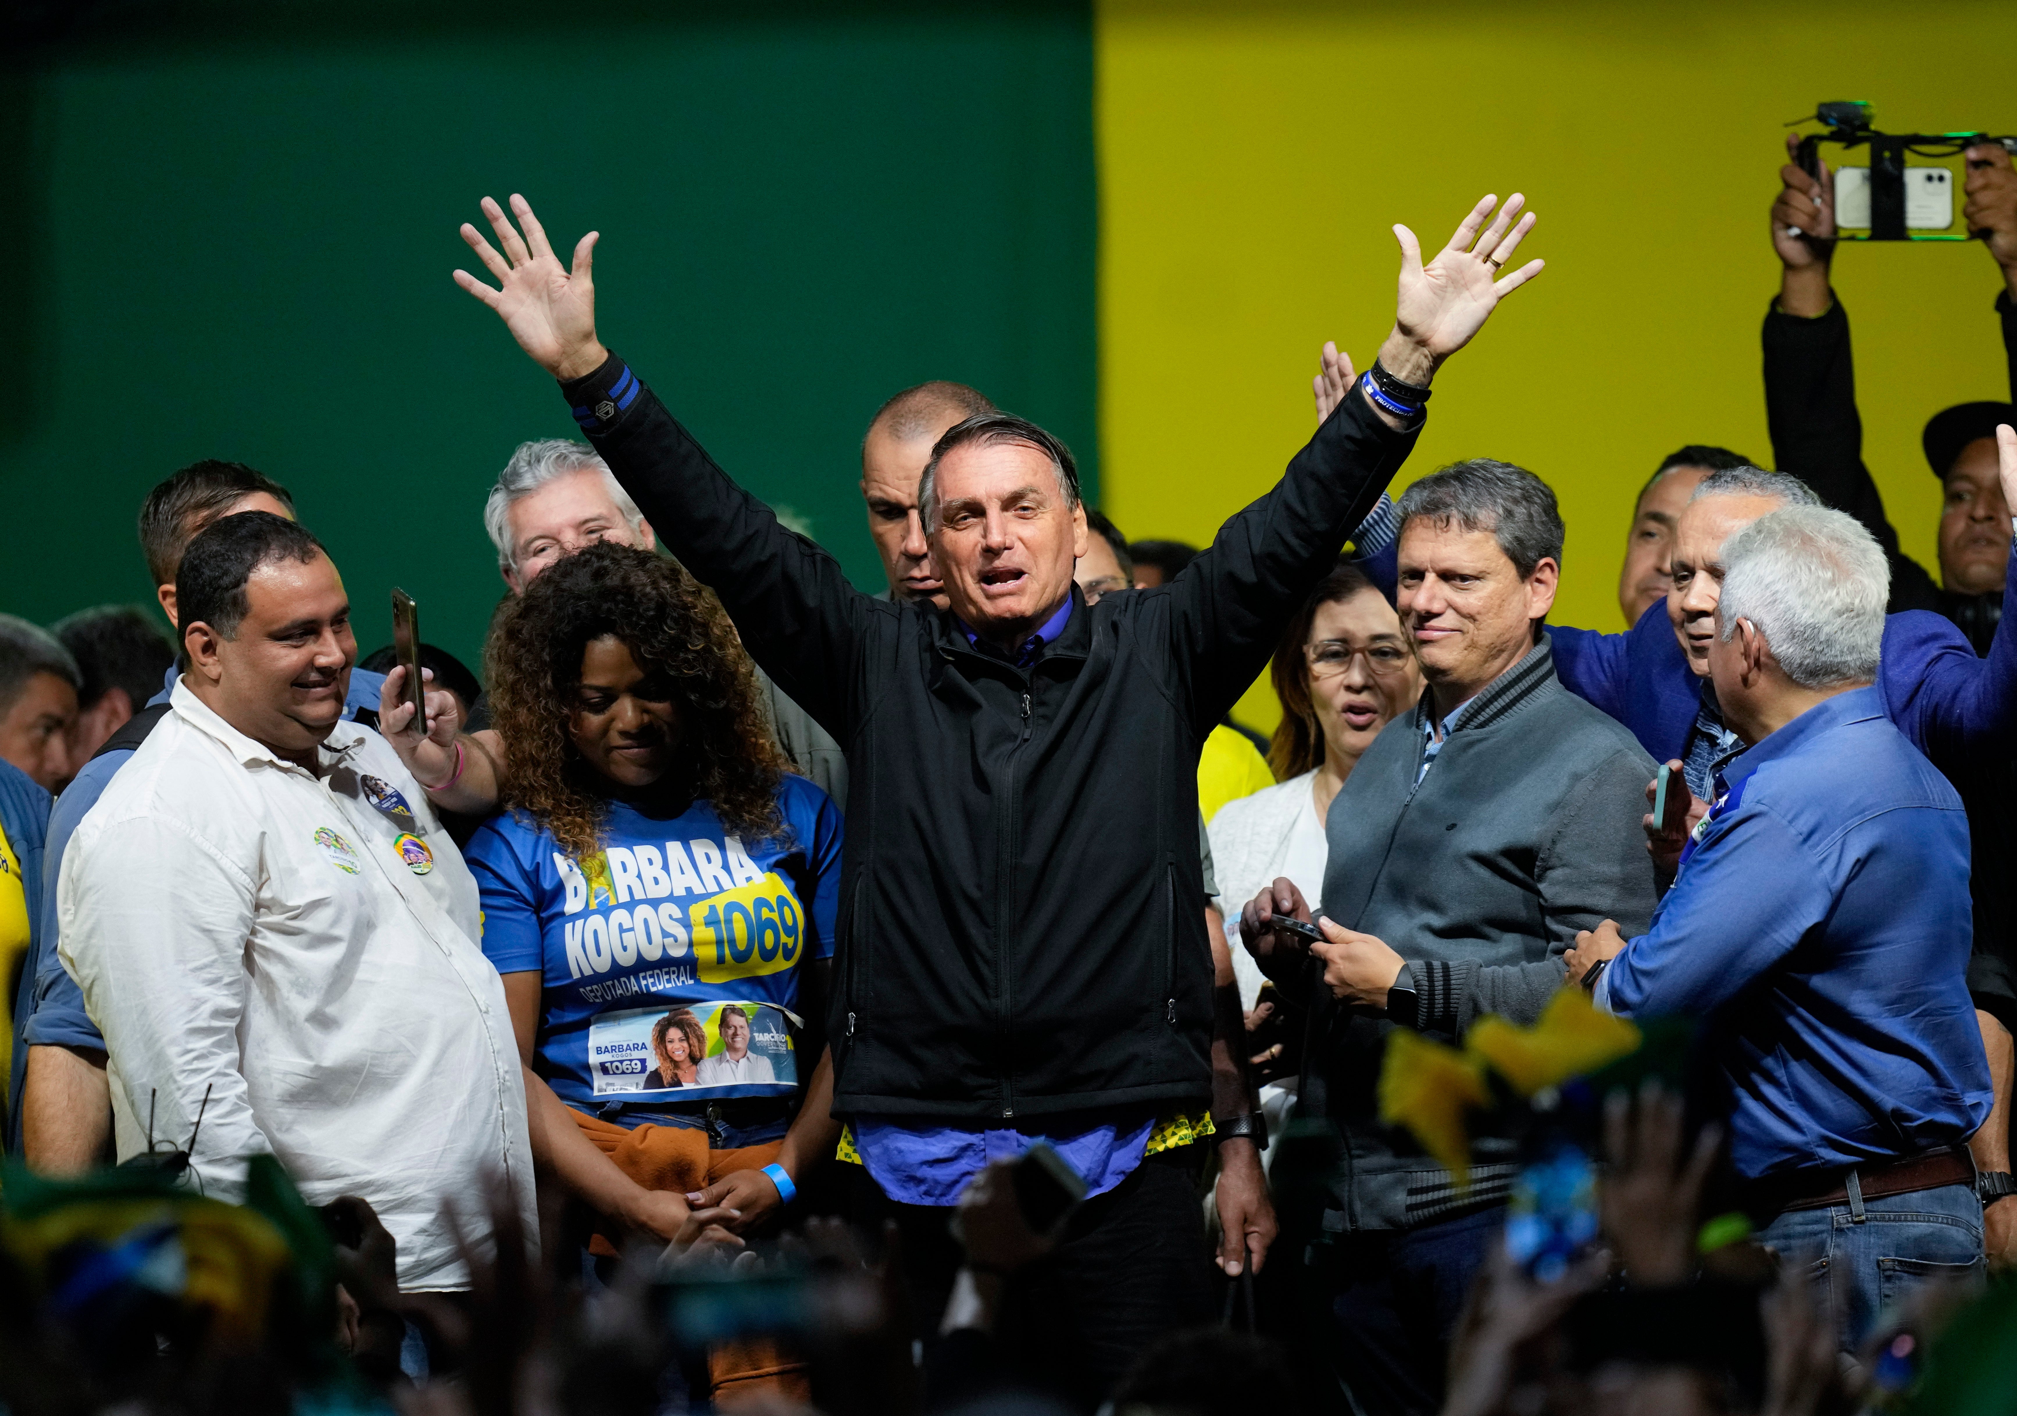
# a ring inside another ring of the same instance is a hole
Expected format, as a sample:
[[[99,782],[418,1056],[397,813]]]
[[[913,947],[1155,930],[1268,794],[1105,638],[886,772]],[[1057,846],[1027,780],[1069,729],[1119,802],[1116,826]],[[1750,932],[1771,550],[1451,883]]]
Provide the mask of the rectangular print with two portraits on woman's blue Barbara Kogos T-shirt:
[[[595,1095],[789,1095],[799,1085],[785,1013],[764,1002],[676,1002],[589,1025]]]

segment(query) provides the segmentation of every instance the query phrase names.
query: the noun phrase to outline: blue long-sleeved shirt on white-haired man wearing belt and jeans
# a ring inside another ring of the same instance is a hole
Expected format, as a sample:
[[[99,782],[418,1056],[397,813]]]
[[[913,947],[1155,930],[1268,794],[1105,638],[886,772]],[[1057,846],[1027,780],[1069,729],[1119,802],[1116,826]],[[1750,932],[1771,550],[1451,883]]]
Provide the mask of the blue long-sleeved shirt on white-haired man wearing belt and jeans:
[[[1858,688],[1729,760],[1716,787],[1597,1000],[1706,1019],[1745,1178],[1965,1142],[1991,1091],[1952,785]]]

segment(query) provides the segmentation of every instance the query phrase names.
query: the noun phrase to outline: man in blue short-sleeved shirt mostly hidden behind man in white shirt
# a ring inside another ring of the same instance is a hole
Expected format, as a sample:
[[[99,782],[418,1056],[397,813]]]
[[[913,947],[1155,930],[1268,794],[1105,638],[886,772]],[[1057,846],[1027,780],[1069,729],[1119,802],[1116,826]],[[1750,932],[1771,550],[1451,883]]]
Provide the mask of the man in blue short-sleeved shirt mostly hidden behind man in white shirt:
[[[238,512],[264,510],[294,516],[294,498],[272,478],[240,462],[204,460],[182,468],[155,486],[141,504],[139,541],[147,571],[155,581],[155,597],[167,623],[175,619],[175,575],[190,541],[214,520]],[[77,777],[65,787],[48,819],[48,845],[42,855],[42,920],[34,948],[22,966],[20,1007],[14,1017],[12,1097],[20,1103],[8,1117],[6,1148],[24,1156],[30,1166],[69,1174],[87,1170],[111,1148],[111,1091],[105,1081],[105,1039],[85,1013],[77,980],[56,958],[56,877],[63,871],[63,851],[97,805],[113,775],[125,766],[147,732],[167,712],[167,696],[180,676],[167,670],[161,692],[119,732],[107,738]],[[351,672],[343,718],[363,712],[375,722],[383,706],[385,676],[367,670]],[[391,738],[401,756],[409,752],[411,734]],[[488,758],[470,754],[478,773],[488,773]],[[442,777],[432,758],[422,769],[422,781]],[[456,783],[450,783],[452,787]],[[462,783],[470,787],[470,783]],[[492,791],[484,777],[474,787]],[[458,801],[444,801],[454,809]]]

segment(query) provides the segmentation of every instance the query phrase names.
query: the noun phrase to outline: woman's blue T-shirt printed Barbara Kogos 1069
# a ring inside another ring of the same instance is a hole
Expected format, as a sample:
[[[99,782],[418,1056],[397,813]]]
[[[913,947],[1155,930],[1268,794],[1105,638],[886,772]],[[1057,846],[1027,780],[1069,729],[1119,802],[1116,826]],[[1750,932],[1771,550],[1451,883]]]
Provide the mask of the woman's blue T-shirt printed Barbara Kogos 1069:
[[[684,1113],[789,1097],[811,1075],[787,1023],[805,966],[833,956],[841,813],[791,775],[777,807],[762,837],[706,801],[676,815],[613,801],[601,849],[579,857],[520,813],[470,841],[484,956],[506,978],[539,974],[537,1067],[565,1105]]]

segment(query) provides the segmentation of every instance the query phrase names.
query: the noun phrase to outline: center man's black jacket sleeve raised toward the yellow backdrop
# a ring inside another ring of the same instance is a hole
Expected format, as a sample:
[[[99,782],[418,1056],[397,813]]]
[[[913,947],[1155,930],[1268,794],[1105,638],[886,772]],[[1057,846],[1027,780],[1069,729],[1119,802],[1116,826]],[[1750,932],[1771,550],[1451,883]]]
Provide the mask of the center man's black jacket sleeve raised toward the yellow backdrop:
[[[1396,432],[1357,389],[1345,393],[1281,482],[1220,526],[1170,583],[1170,635],[1202,738],[1255,682],[1283,625],[1317,587],[1422,424]]]

